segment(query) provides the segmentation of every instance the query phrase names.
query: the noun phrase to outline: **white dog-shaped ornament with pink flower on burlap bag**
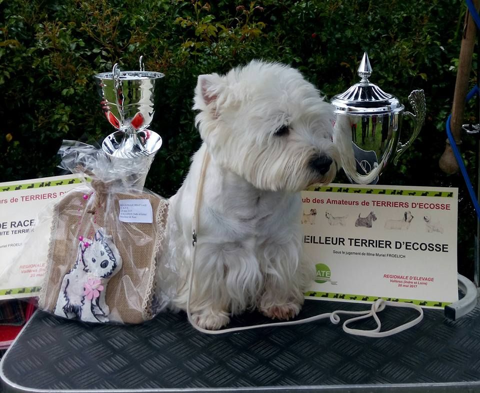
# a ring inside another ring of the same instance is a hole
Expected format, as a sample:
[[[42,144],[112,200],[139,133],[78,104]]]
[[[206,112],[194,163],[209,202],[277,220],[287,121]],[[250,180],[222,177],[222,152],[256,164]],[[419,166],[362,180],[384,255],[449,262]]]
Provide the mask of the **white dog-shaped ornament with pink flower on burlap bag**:
[[[121,269],[121,256],[103,228],[93,240],[79,239],[75,265],[63,276],[54,314],[85,322],[108,322],[108,280]]]

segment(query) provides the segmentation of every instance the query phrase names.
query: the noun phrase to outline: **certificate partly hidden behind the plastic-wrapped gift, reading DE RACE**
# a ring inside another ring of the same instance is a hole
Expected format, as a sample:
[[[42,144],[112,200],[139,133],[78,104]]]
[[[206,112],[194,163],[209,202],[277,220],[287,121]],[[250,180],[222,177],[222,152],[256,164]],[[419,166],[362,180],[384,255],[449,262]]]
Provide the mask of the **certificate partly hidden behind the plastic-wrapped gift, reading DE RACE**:
[[[46,269],[48,222],[44,223],[46,230],[42,228],[44,244],[35,250],[35,256],[25,258],[35,262],[13,263],[34,229],[38,212],[81,182],[78,175],[66,175],[0,184],[0,300],[37,294]]]

